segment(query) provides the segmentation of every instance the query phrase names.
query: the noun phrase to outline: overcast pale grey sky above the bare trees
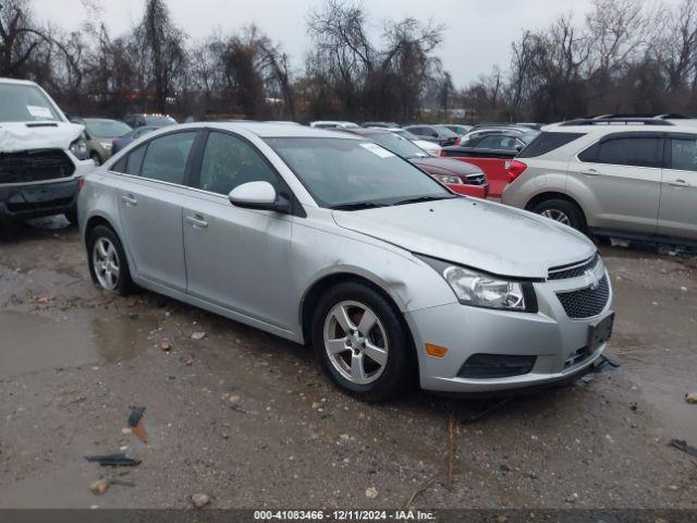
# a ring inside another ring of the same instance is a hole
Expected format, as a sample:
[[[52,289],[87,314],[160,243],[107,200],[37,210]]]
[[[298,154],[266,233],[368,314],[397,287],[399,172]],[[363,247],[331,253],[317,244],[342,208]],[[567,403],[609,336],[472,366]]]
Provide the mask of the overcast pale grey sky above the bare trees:
[[[93,3],[95,0],[90,0]],[[670,0],[671,3],[677,0]],[[143,0],[97,0],[111,32],[126,31],[142,14]],[[193,38],[211,31],[228,34],[248,24],[262,28],[281,42],[295,69],[310,42],[306,32],[308,10],[321,0],[169,0],[176,24]],[[561,13],[573,12],[582,21],[590,0],[368,0],[371,31],[386,19],[414,16],[447,25],[437,51],[456,86],[462,86],[494,64],[508,69],[511,42],[524,29],[547,26]],[[64,27],[76,28],[85,20],[81,0],[34,0],[35,14]]]

